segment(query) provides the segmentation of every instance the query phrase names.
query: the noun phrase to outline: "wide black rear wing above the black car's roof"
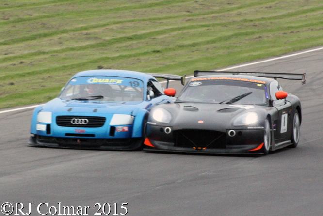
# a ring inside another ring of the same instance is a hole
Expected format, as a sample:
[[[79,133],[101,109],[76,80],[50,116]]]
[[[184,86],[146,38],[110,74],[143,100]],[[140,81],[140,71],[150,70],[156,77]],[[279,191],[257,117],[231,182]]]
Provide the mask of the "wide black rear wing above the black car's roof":
[[[306,73],[304,74],[287,74],[287,73],[258,73],[258,72],[234,72],[234,71],[194,71],[194,77],[217,75],[217,74],[232,74],[232,75],[250,75],[256,77],[269,77],[281,79],[302,80],[302,84],[306,83]]]

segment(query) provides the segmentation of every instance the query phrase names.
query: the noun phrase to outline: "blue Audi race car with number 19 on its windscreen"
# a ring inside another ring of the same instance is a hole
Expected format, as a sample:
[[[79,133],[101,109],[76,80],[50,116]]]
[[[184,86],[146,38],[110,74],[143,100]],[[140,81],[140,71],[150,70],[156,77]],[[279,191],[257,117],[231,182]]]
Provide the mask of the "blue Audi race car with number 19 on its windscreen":
[[[57,98],[34,109],[29,144],[62,148],[139,150],[149,110],[172,103],[175,90],[156,78],[185,76],[125,70],[74,75]]]

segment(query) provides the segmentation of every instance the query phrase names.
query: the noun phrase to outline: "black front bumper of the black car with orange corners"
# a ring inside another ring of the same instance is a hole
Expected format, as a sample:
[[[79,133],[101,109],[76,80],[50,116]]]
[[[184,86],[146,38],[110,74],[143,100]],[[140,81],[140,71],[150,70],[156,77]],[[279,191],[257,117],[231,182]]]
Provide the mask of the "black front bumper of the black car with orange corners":
[[[184,129],[147,125],[147,138],[154,147],[145,146],[145,150],[179,151],[219,154],[262,154],[261,149],[250,151],[263,143],[263,129],[233,129],[229,135],[212,130]],[[167,132],[167,133],[166,133]],[[232,136],[233,135],[233,136]]]

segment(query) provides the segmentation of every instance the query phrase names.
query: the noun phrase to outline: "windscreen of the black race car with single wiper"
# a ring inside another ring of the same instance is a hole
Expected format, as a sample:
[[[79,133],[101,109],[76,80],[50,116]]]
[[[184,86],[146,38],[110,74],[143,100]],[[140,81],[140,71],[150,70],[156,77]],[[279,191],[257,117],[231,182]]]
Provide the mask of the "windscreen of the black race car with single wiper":
[[[268,104],[266,85],[226,79],[192,79],[176,102]]]

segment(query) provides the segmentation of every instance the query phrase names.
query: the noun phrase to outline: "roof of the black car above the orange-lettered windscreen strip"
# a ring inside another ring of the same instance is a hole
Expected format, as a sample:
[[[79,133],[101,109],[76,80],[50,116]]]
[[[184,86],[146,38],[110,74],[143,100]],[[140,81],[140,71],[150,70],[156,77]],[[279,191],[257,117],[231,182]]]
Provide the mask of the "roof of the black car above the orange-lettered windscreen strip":
[[[249,82],[254,82],[254,83],[262,83],[269,85],[269,83],[275,81],[275,79],[272,78],[266,78],[266,77],[258,77],[258,76],[250,76],[250,75],[229,75],[229,74],[224,74],[224,75],[208,75],[208,76],[197,76],[193,77],[191,81],[198,81],[198,80],[203,80],[203,79],[210,79],[210,78],[219,78],[219,80],[224,79],[224,80],[237,80],[237,81],[249,81]]]

